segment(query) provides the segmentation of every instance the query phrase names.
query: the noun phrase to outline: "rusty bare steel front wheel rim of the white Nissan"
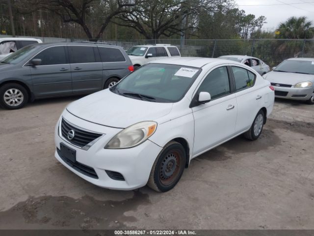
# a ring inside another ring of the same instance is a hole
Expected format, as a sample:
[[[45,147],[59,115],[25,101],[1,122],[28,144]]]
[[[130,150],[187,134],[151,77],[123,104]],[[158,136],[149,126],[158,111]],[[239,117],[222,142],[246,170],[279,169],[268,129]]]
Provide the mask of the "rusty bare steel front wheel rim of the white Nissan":
[[[163,185],[172,184],[180,172],[181,156],[173,150],[164,155],[159,167],[159,180]]]

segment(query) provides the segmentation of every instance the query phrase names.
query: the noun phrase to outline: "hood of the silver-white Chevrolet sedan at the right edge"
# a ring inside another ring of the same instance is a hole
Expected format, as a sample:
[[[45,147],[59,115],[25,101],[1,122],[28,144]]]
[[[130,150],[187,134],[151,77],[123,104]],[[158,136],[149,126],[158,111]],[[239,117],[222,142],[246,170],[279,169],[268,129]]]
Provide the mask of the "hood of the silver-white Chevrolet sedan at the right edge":
[[[304,81],[314,82],[314,75],[288,73],[288,72],[277,72],[272,71],[267,73],[264,78],[270,83],[296,85],[297,83]]]

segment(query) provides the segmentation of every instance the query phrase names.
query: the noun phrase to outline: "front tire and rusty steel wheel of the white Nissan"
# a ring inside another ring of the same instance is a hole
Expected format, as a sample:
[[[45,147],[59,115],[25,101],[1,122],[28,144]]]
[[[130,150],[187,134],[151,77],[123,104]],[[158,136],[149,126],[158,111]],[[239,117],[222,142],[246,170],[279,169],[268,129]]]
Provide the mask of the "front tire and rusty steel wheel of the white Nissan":
[[[157,192],[167,192],[179,182],[186,162],[185,150],[178,142],[169,142],[158,154],[147,185]],[[173,168],[175,164],[175,168]]]

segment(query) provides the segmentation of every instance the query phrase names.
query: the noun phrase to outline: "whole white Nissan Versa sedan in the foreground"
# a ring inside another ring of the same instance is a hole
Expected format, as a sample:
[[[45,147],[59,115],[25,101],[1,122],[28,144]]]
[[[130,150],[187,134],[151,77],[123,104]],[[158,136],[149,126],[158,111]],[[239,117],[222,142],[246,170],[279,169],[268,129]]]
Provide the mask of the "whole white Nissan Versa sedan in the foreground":
[[[55,128],[55,157],[101,187],[165,192],[196,156],[242,133],[256,140],[273,104],[270,82],[244,64],[156,60],[71,103]]]

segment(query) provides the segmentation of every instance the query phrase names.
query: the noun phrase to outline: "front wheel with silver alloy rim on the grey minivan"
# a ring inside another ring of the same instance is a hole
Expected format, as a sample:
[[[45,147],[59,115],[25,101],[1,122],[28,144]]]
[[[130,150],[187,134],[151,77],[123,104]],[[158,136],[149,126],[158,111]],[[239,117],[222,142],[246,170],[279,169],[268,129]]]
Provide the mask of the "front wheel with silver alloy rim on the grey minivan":
[[[6,100],[5,99],[5,98],[10,99],[10,97],[7,95],[8,93],[11,94],[10,89],[12,89],[11,90],[12,92],[16,92],[16,94],[12,93],[12,95],[14,96],[12,99],[15,99],[15,100]],[[6,102],[8,102],[12,105],[10,105]],[[0,105],[1,105],[1,107],[8,109],[8,110],[16,110],[16,109],[20,109],[20,108],[24,107],[27,102],[28,102],[28,93],[27,93],[27,90],[22,85],[15,84],[15,83],[9,83],[9,84],[5,84],[2,87],[0,87]],[[18,104],[18,103],[20,103],[20,104]]]

